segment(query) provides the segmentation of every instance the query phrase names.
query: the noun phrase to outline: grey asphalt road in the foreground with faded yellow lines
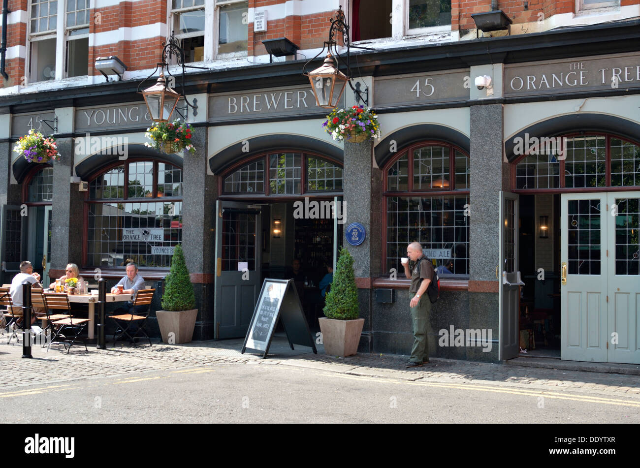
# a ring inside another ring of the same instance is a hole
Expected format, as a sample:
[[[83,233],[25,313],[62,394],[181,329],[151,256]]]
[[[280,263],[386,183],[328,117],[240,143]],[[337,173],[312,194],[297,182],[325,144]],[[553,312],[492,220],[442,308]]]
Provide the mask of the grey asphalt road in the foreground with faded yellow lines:
[[[3,389],[13,423],[640,423],[640,399],[221,363]],[[15,406],[18,405],[18,406]]]

